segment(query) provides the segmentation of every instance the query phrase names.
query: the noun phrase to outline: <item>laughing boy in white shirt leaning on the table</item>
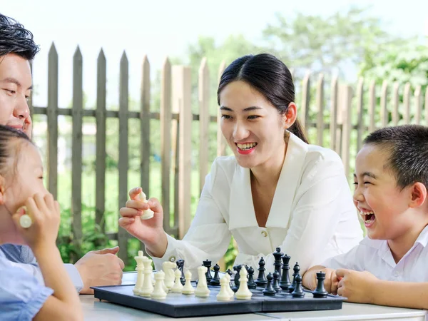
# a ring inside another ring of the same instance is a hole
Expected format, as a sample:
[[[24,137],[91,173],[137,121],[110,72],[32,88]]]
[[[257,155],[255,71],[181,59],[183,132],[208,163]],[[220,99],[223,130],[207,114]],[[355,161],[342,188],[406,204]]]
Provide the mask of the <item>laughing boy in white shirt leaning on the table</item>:
[[[354,203],[367,237],[350,252],[311,267],[303,285],[350,302],[428,309],[428,127],[382,128],[355,163]]]

